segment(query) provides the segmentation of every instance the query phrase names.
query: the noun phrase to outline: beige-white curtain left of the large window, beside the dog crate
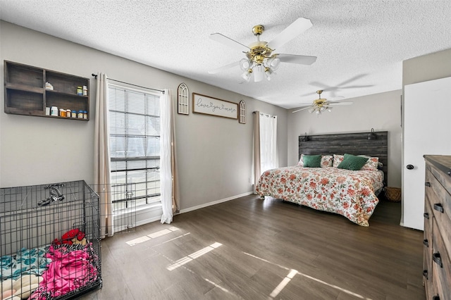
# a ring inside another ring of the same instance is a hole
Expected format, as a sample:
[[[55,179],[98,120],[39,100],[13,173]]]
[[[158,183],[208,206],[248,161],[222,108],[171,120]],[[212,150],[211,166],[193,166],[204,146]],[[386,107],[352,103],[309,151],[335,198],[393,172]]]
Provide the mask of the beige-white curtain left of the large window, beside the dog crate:
[[[100,197],[100,237],[102,239],[114,234],[108,115],[108,77],[104,73],[99,73],[94,124],[94,189]]]

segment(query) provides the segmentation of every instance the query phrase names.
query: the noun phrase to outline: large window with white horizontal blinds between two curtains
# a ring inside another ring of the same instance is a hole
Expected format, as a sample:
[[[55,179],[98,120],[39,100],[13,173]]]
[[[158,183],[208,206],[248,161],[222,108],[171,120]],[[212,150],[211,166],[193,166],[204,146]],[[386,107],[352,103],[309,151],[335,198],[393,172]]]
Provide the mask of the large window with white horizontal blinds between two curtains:
[[[133,191],[114,197],[113,209],[161,206],[160,96],[110,84],[108,98],[111,185]]]

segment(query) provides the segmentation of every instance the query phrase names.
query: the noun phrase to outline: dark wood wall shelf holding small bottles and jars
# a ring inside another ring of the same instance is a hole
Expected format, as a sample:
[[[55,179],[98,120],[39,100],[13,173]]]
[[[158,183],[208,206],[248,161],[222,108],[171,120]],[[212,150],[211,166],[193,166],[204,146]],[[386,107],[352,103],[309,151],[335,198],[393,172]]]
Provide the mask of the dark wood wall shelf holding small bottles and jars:
[[[4,61],[5,113],[35,115],[67,120],[89,120],[89,91],[78,95],[78,87],[89,88],[89,78],[78,77],[53,70]],[[49,82],[53,89],[46,89]],[[68,118],[47,115],[46,107],[56,106],[70,111],[86,111],[87,118]]]

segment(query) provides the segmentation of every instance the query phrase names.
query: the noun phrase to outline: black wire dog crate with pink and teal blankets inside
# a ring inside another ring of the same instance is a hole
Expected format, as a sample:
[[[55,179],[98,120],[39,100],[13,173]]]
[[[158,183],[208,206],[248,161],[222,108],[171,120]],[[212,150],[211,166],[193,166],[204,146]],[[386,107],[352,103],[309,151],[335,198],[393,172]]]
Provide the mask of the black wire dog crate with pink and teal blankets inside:
[[[0,189],[1,299],[100,288],[99,218],[99,196],[83,180]]]

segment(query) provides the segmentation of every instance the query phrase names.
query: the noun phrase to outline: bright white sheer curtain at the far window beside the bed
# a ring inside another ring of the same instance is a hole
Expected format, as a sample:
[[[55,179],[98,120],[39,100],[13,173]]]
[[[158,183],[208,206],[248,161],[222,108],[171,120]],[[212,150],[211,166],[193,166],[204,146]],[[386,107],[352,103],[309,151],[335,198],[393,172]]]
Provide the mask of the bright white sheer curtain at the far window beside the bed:
[[[259,113],[260,123],[260,174],[278,168],[277,116]]]

